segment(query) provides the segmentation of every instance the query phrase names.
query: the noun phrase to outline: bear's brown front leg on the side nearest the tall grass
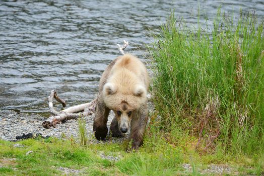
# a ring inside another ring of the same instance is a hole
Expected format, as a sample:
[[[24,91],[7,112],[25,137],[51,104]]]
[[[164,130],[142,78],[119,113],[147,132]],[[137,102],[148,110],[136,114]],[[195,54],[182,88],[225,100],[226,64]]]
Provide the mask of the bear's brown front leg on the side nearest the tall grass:
[[[137,150],[143,144],[144,132],[148,121],[147,104],[142,106],[136,117],[131,120],[130,139],[132,141],[131,149]]]

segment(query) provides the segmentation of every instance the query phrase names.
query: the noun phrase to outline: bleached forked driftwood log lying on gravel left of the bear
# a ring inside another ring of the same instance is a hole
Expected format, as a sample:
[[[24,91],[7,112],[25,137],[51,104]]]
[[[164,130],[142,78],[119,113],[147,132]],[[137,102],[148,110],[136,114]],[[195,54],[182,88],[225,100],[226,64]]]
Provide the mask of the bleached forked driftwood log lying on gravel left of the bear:
[[[90,103],[73,106],[58,112],[53,107],[53,103],[52,103],[53,98],[57,102],[61,103],[63,107],[66,106],[65,101],[57,96],[55,90],[52,90],[50,92],[50,96],[48,96],[48,106],[50,113],[53,114],[54,116],[49,117],[47,120],[45,120],[42,123],[42,126],[44,128],[50,128],[52,126],[55,127],[56,124],[64,120],[77,119],[82,116],[91,115],[93,112],[95,112],[95,107],[97,104],[97,98],[96,98]]]

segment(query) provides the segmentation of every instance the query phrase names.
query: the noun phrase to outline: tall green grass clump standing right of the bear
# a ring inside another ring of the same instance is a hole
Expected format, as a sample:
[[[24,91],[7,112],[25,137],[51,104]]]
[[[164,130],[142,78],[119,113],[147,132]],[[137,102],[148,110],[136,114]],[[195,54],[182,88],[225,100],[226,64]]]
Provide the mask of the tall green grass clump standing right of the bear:
[[[263,22],[219,10],[211,30],[173,14],[156,34],[153,102],[165,131],[196,136],[196,148],[264,151]]]

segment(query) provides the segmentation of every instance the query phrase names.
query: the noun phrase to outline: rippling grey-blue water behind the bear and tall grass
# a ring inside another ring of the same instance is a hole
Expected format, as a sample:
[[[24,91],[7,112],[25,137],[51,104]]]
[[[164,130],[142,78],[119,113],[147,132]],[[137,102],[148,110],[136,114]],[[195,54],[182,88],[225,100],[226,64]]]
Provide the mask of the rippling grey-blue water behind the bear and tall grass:
[[[119,55],[116,44],[145,60],[148,29],[172,8],[187,25],[212,20],[217,9],[264,17],[264,1],[0,1],[0,111],[48,111],[56,89],[69,106],[92,100],[100,75]]]

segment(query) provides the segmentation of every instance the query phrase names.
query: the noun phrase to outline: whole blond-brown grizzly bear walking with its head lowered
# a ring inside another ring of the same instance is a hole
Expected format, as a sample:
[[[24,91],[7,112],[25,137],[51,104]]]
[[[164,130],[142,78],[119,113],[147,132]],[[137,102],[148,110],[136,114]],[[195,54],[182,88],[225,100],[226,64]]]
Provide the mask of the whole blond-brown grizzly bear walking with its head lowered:
[[[110,110],[115,114],[110,134],[120,137],[130,127],[131,149],[143,144],[148,121],[147,91],[149,75],[145,65],[135,56],[125,54],[114,59],[100,79],[93,130],[98,140],[105,140]]]

